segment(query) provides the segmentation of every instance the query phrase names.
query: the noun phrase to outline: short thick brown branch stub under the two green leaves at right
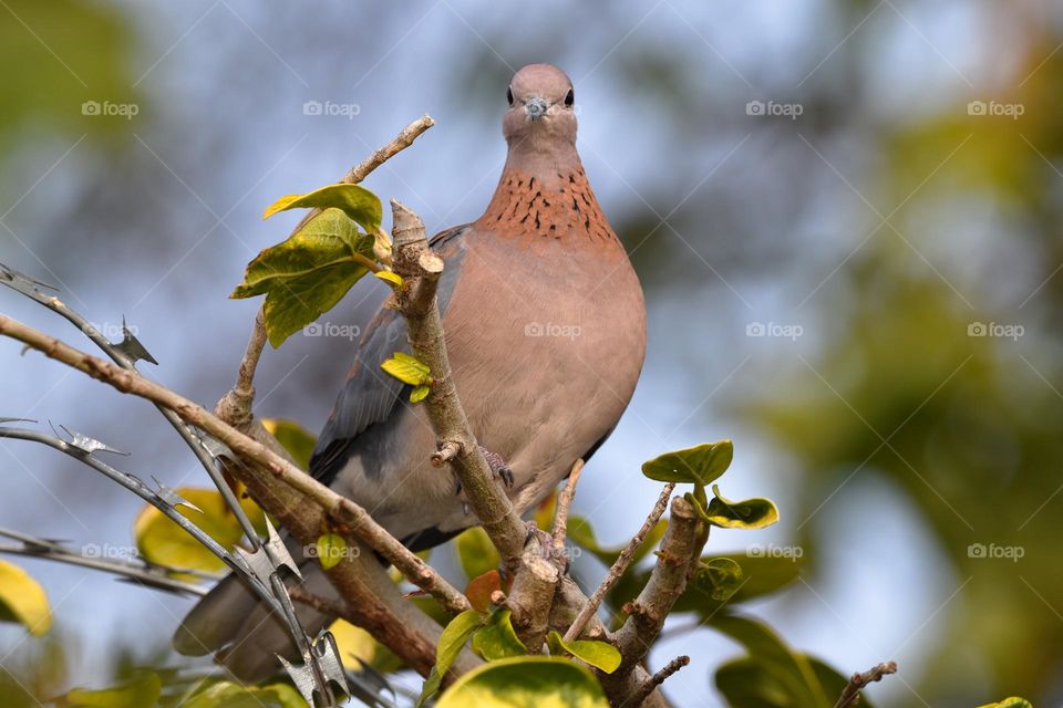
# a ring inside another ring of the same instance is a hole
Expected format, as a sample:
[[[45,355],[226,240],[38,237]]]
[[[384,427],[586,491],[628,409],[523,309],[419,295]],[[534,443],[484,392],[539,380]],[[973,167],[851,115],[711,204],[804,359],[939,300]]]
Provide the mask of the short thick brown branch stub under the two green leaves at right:
[[[616,674],[622,674],[646,658],[672,605],[687,589],[688,571],[698,562],[700,552],[698,520],[690,502],[682,497],[672,499],[668,532],[661,542],[657,565],[639,596],[625,605],[628,618],[613,634],[623,657]]]

